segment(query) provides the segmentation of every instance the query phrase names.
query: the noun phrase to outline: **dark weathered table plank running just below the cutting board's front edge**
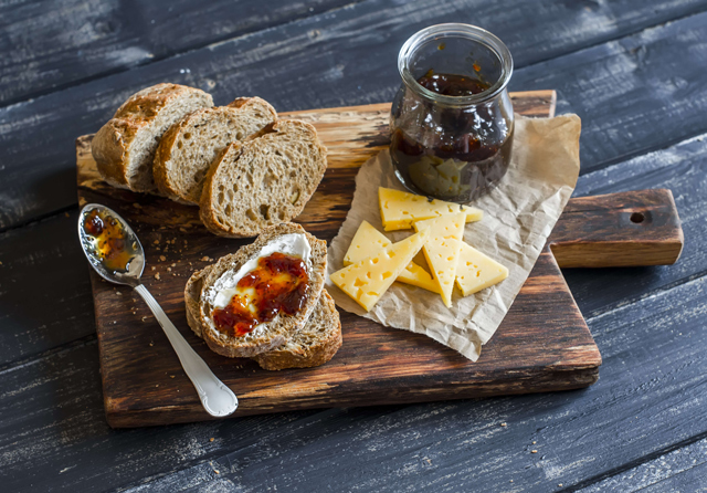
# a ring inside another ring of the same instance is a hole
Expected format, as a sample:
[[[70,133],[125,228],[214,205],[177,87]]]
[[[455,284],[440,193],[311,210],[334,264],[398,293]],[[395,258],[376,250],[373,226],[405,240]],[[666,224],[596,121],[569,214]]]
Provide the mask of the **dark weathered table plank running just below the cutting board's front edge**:
[[[585,485],[707,431],[705,306],[701,277],[590,319],[604,365],[587,390],[330,410],[232,444],[232,453],[150,489],[175,491],[181,481],[246,492]]]

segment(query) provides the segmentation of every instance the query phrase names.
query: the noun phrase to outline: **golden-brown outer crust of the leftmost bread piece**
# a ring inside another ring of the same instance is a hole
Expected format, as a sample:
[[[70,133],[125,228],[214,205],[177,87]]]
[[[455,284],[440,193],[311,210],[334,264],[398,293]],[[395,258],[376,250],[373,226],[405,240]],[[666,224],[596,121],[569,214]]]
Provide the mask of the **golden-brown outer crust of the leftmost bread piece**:
[[[146,87],[123,103],[93,138],[92,154],[101,176],[118,188],[152,191],[156,187],[151,180],[151,162],[146,170],[149,179],[144,177],[141,180],[130,180],[130,147],[140,130],[155,122],[160,111],[171,102],[191,94],[200,97],[203,107],[213,105],[211,95],[201,90],[168,83]]]

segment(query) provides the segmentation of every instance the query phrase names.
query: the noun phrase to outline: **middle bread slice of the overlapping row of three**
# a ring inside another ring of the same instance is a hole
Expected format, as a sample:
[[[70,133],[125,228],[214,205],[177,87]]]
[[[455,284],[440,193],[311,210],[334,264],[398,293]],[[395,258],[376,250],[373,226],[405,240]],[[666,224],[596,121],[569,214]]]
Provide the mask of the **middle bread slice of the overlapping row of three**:
[[[184,116],[157,148],[152,165],[157,188],[172,200],[199,204],[207,171],[221,150],[276,119],[275,108],[260,97],[240,97],[228,106]]]

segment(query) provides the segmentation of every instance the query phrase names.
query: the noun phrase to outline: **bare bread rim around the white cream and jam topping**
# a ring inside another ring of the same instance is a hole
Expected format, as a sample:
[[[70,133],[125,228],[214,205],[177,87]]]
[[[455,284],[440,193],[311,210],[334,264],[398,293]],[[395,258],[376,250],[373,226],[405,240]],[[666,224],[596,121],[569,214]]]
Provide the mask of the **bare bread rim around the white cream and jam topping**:
[[[310,254],[308,271],[309,293],[302,310],[293,315],[279,314],[267,324],[261,324],[244,336],[231,336],[219,332],[213,323],[212,312],[214,306],[213,287],[217,281],[226,273],[238,270],[250,259],[257,256],[260,251],[271,241],[289,233],[304,234],[309,243]],[[242,246],[238,252],[221,258],[209,270],[201,271],[201,296],[199,298],[198,318],[201,322],[201,337],[207,342],[211,350],[232,358],[252,357],[268,352],[285,344],[292,335],[299,331],[309,319],[321,290],[327,268],[327,244],[307,233],[299,224],[284,223],[266,229],[254,243]],[[198,290],[199,280],[190,280],[187,292],[194,293]],[[193,304],[192,304],[193,310]],[[190,326],[196,325],[196,316]],[[194,331],[194,332],[198,332]]]

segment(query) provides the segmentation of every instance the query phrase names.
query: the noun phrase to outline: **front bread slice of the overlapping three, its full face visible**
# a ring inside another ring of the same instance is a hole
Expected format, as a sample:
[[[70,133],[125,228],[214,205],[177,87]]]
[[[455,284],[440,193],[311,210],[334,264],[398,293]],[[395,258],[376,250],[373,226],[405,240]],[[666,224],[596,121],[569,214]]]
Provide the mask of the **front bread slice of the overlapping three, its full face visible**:
[[[249,238],[302,212],[327,167],[326,147],[305,122],[281,119],[217,157],[200,216],[214,234]]]

